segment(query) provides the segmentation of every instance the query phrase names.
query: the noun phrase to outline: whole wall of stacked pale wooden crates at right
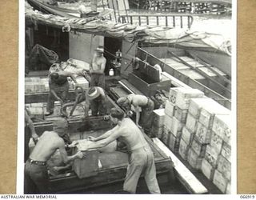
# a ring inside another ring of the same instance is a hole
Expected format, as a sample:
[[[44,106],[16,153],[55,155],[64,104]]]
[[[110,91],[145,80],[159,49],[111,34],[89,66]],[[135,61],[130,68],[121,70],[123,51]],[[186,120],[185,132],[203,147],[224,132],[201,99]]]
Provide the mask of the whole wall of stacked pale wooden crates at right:
[[[174,87],[165,109],[154,110],[151,132],[222,193],[230,194],[230,127],[230,110],[200,90]]]

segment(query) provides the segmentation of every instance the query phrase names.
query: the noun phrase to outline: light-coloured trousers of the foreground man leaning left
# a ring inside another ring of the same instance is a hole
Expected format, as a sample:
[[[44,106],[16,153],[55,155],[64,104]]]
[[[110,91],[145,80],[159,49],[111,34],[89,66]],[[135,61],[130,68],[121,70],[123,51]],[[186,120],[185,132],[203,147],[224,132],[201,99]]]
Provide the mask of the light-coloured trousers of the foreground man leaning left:
[[[150,146],[144,146],[131,152],[123,190],[133,194],[136,193],[138,179],[141,174],[144,174],[150,193],[160,194],[154,166],[154,154]]]

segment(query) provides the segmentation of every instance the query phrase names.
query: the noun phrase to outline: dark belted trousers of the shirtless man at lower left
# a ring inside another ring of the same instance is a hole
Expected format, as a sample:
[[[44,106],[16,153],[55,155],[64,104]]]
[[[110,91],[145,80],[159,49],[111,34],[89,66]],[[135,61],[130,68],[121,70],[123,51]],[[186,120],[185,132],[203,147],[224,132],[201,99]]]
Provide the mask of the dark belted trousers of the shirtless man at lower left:
[[[46,166],[38,166],[26,161],[24,177],[24,194],[47,194],[49,176]]]

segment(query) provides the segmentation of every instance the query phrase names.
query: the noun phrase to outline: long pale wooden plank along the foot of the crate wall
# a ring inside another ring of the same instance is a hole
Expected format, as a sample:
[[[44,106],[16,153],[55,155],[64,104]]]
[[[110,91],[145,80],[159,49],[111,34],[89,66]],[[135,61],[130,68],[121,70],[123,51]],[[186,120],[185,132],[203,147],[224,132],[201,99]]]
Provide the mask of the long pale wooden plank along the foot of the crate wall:
[[[198,181],[190,170],[186,168],[182,164],[182,162],[158,139],[153,138],[153,142],[157,145],[167,156],[169,156],[174,162],[174,170],[178,173],[178,179],[180,182],[184,184],[187,190],[190,191],[191,194],[207,194],[208,190],[205,186],[202,185],[201,182]]]

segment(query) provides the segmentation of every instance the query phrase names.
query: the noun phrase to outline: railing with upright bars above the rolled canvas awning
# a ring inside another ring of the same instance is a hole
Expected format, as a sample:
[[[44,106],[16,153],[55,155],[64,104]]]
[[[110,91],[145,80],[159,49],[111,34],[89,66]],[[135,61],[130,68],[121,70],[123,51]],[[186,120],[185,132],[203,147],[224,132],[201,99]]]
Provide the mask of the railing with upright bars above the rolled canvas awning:
[[[193,17],[186,14],[126,14],[120,15],[118,22],[138,24],[139,26],[168,26],[190,29]]]

